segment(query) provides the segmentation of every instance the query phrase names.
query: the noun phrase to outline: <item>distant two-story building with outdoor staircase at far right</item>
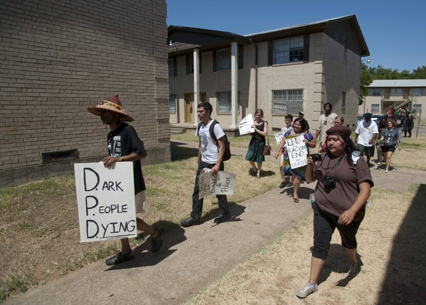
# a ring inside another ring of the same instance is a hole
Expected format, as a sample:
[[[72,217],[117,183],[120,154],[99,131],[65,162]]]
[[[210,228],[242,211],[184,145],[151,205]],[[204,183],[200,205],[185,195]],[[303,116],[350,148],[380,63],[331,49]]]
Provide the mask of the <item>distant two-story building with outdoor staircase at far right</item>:
[[[426,107],[426,79],[376,79],[367,87],[369,94],[358,114],[389,113],[391,106],[419,114]]]

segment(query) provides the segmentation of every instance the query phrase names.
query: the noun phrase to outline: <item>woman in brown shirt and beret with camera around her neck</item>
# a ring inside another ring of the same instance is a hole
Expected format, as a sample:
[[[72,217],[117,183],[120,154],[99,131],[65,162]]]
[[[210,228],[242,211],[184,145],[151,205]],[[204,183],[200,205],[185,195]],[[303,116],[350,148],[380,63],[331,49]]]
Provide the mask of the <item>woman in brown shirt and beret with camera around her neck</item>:
[[[340,233],[342,246],[350,263],[348,276],[358,273],[356,233],[364,218],[365,203],[373,186],[370,168],[364,158],[353,154],[355,145],[351,130],[335,126],[326,131],[326,152],[322,160],[307,159],[305,173],[307,182],[318,180],[314,210],[314,247],[311,259],[309,282],[297,293],[304,298],[317,291],[317,280],[324,266],[334,230]]]

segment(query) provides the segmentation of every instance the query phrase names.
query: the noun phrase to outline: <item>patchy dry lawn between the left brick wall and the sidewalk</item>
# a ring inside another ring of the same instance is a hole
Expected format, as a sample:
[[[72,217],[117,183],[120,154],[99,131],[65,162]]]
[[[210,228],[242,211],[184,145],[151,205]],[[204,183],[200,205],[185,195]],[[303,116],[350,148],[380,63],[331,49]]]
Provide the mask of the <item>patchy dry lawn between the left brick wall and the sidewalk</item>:
[[[180,226],[180,219],[189,215],[197,170],[197,150],[171,150],[175,161],[143,166],[147,211],[139,215],[166,231]],[[276,162],[264,163],[260,180],[248,176],[249,168],[239,156],[225,162],[225,170],[237,174],[235,194],[228,197],[230,204],[277,186]],[[215,196],[204,202],[204,216],[218,213]],[[0,256],[4,258],[0,260],[0,301],[120,250],[120,241],[80,243],[73,175],[0,189],[0,215]],[[139,245],[146,238],[139,234],[130,243]]]

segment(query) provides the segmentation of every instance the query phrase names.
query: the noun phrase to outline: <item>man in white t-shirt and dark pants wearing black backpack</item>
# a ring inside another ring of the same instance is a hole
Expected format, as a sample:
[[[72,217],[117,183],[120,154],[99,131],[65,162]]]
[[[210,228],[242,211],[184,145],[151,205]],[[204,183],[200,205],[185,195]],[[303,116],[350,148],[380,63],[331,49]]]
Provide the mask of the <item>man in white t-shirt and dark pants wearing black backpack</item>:
[[[181,219],[183,227],[200,224],[203,212],[203,198],[198,199],[200,192],[198,177],[201,170],[204,168],[211,169],[211,175],[224,170],[223,156],[225,153],[226,135],[217,121],[211,119],[213,108],[210,103],[200,103],[197,108],[198,118],[201,120],[195,132],[195,135],[200,138],[198,146],[198,169],[192,194],[191,216]],[[219,202],[219,216],[215,218],[215,223],[220,223],[229,219],[228,199],[226,195],[216,195],[216,197]]]

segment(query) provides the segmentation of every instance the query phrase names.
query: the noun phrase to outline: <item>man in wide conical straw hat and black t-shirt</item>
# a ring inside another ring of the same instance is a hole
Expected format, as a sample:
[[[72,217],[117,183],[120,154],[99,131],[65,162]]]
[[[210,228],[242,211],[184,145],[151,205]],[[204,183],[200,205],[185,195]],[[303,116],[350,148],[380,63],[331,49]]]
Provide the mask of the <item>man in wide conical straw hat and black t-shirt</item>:
[[[144,145],[134,128],[125,121],[133,118],[126,113],[119,96],[111,96],[94,107],[87,109],[89,112],[99,115],[102,123],[110,128],[108,133],[108,156],[104,158],[105,166],[111,166],[114,162],[133,162],[133,179],[135,194],[135,210],[137,213],[145,211],[145,182],[142,175],[141,159],[146,157]],[[149,226],[141,218],[136,218],[138,230],[144,231],[151,236],[152,252],[158,252],[163,246],[163,231],[160,228]],[[121,239],[121,252],[108,258],[106,265],[115,265],[133,258],[129,239]]]

